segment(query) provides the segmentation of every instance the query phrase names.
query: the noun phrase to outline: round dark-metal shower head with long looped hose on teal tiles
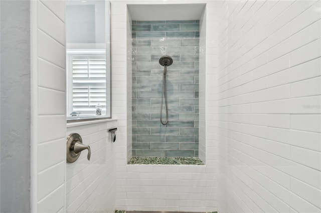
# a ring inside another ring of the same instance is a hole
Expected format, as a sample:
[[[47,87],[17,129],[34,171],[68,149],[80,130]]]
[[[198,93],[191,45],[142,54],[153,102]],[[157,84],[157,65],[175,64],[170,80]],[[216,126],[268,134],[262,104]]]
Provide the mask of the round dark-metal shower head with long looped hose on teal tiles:
[[[161,123],[163,125],[166,125],[167,122],[169,121],[169,110],[168,110],[168,107],[167,107],[167,95],[166,95],[166,73],[167,73],[167,67],[172,65],[172,63],[173,63],[173,58],[171,56],[169,56],[169,55],[163,55],[161,58],[159,58],[159,64],[164,66],[163,83],[162,83],[161,113],[160,113]],[[164,97],[165,97],[165,108],[166,108],[166,120],[165,120],[165,122],[163,122],[163,119],[162,119],[163,94],[164,94]]]

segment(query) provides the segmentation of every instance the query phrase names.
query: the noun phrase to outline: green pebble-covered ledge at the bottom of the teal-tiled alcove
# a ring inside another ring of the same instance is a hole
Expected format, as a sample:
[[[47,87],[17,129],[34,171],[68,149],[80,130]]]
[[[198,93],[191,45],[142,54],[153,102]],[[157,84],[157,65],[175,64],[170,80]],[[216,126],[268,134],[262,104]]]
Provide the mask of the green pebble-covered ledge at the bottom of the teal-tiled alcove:
[[[131,157],[128,164],[204,165],[198,157]]]

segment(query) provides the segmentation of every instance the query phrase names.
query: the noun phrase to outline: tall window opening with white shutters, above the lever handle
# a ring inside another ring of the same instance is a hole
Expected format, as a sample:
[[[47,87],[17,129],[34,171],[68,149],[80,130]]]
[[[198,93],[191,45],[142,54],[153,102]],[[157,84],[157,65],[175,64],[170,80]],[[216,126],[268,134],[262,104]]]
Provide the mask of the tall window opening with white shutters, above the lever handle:
[[[65,23],[67,122],[110,118],[110,2],[66,1]]]

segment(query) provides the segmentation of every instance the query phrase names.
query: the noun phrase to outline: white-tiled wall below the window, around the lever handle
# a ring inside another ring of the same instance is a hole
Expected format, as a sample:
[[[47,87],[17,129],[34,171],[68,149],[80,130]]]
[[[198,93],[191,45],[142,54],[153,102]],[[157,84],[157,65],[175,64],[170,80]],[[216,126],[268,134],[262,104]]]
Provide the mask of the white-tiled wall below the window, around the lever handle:
[[[67,135],[79,133],[83,143],[90,145],[91,158],[87,159],[88,152],[84,150],[75,162],[66,164],[66,212],[113,212],[115,143],[111,142],[107,129],[116,125],[116,120],[86,125],[67,124]]]

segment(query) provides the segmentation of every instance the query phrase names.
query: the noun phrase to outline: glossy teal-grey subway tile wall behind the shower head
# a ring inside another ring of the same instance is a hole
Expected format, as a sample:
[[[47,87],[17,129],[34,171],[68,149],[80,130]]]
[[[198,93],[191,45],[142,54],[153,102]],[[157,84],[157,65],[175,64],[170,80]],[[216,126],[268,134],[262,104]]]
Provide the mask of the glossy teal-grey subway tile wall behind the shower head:
[[[132,21],[132,156],[198,156],[199,28],[199,20]],[[163,55],[174,61],[167,125],[159,120]]]

